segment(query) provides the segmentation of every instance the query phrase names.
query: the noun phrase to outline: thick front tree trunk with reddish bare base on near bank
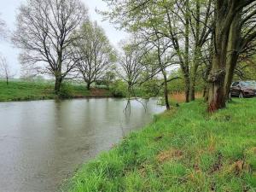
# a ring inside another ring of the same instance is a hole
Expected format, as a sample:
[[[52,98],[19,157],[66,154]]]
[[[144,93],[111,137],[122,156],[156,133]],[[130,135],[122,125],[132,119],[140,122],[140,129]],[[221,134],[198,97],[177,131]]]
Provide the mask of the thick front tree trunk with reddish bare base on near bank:
[[[212,71],[209,75],[209,99],[208,111],[210,113],[220,108],[225,108],[225,75],[226,56],[229,43],[230,26],[232,18],[230,15],[236,12],[236,5],[228,1],[216,2],[216,26],[214,32],[214,54],[212,61]]]

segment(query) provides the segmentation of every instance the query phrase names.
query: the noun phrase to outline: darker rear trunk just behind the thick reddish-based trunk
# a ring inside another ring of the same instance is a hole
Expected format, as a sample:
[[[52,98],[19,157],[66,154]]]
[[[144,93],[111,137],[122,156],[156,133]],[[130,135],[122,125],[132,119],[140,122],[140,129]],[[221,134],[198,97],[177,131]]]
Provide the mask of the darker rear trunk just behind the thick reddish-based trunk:
[[[236,14],[232,25],[230,26],[230,37],[228,45],[226,77],[225,77],[225,100],[230,97],[230,86],[236,69],[237,60],[239,57],[239,49],[241,44],[241,12]]]

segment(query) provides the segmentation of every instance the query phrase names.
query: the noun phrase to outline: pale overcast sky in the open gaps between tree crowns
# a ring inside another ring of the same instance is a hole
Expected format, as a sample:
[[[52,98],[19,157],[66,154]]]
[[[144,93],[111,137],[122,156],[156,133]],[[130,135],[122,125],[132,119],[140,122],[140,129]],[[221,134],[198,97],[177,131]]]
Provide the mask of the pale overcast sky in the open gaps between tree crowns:
[[[1,19],[3,19],[9,30],[13,31],[15,29],[15,16],[17,15],[17,9],[21,2],[26,0],[1,0],[0,13]],[[125,38],[125,32],[117,31],[112,24],[108,21],[102,21],[102,16],[96,14],[96,9],[106,10],[106,3],[102,0],[82,0],[86,7],[89,9],[90,20],[97,20],[98,23],[104,28],[110,42],[118,48],[118,43],[121,39]],[[20,73],[20,62],[18,61],[20,49],[15,49],[15,46],[10,44],[8,41],[0,42],[0,53],[4,55],[11,65],[15,73]]]

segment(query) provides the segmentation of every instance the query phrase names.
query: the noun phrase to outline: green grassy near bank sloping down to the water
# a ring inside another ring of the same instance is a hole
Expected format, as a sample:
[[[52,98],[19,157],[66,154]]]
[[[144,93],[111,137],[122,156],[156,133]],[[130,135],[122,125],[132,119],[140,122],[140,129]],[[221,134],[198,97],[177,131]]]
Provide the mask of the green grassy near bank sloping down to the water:
[[[161,114],[84,165],[72,192],[255,191],[256,99],[207,116],[203,102]]]

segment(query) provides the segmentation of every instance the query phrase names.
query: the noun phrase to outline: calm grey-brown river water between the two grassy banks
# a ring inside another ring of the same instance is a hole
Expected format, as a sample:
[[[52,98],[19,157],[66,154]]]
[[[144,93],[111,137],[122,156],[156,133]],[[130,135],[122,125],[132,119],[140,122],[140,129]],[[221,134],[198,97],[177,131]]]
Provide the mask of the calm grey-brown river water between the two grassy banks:
[[[54,192],[82,163],[165,108],[155,100],[122,99],[0,103],[0,191]]]

